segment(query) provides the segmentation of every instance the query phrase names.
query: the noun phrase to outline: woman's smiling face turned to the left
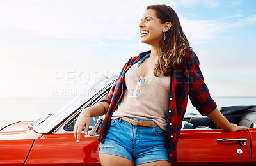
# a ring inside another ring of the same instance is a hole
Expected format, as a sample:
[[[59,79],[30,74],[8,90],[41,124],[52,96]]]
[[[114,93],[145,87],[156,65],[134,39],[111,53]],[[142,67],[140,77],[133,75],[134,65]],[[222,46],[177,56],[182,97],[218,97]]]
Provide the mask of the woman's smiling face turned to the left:
[[[153,9],[148,9],[144,12],[139,27],[142,43],[154,47],[159,46],[159,42],[164,34],[164,24],[156,17],[156,13]]]

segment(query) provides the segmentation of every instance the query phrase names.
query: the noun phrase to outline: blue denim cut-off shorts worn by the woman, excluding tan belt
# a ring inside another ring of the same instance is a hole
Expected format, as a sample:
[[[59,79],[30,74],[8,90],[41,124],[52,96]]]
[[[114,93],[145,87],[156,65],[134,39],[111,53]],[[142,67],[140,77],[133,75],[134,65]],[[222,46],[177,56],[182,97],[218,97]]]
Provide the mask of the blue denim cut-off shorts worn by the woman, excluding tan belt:
[[[167,160],[171,162],[168,153],[168,133],[159,128],[134,126],[121,118],[111,119],[106,139],[100,143],[98,153],[108,153],[132,160],[135,165]]]

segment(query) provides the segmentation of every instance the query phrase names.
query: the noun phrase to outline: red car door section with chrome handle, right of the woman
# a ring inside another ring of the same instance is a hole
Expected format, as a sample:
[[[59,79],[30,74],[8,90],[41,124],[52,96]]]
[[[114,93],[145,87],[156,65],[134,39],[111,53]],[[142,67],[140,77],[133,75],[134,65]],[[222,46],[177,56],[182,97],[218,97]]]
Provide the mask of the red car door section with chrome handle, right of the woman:
[[[177,143],[178,160],[172,165],[246,166],[251,163],[250,146],[250,134],[246,130],[182,130]]]

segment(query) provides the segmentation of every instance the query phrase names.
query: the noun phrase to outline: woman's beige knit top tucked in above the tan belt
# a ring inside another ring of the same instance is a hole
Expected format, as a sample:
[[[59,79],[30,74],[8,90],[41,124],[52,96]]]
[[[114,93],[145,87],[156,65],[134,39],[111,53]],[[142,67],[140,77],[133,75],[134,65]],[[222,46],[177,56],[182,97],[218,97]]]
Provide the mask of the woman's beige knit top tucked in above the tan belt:
[[[140,86],[141,93],[132,97],[132,93],[141,79],[138,62],[125,73],[125,89],[122,101],[113,112],[112,119],[119,117],[135,117],[153,120],[164,131],[167,130],[167,115],[170,94],[170,76],[156,77],[153,71],[147,73],[146,82]]]

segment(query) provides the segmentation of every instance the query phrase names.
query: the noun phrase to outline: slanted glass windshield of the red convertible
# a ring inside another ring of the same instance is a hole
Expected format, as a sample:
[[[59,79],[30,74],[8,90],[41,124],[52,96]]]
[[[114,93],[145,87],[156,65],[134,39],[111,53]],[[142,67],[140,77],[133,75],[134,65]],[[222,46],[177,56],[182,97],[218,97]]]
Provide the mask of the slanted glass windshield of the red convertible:
[[[63,121],[63,119],[74,113],[79,107],[81,107],[81,105],[89,102],[90,98],[106,87],[109,82],[113,82],[112,79],[115,78],[111,77],[108,79],[108,77],[102,75],[102,77],[100,77],[95,84],[91,84],[86,89],[81,91],[81,93],[77,94],[73,100],[64,105],[60,110],[49,116],[47,119],[42,119],[44,121],[39,121],[34,130],[39,133],[47,133],[51,131],[54,126],[58,125],[61,123],[61,121]]]

